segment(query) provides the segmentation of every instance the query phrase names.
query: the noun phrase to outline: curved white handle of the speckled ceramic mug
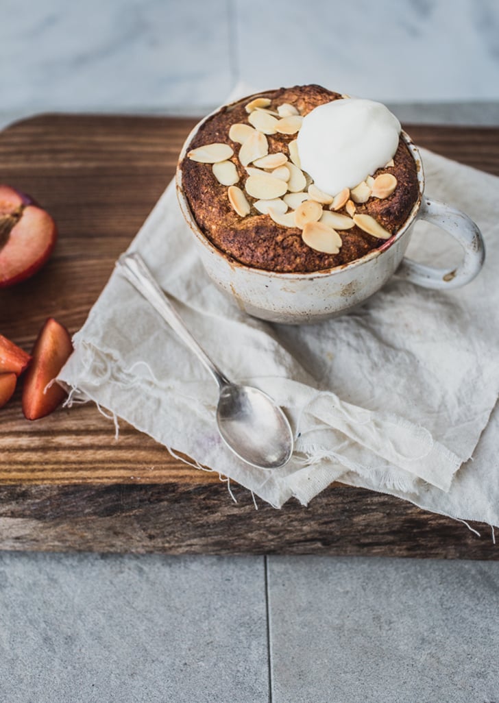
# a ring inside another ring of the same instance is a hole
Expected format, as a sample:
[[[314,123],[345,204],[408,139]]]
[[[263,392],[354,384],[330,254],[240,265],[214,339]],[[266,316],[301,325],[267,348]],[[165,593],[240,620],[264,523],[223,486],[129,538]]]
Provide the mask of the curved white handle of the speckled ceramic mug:
[[[469,283],[484,264],[485,245],[478,226],[464,212],[439,200],[423,197],[417,219],[435,224],[448,232],[462,246],[464,258],[455,269],[436,269],[402,259],[396,274],[423,288],[451,289]]]

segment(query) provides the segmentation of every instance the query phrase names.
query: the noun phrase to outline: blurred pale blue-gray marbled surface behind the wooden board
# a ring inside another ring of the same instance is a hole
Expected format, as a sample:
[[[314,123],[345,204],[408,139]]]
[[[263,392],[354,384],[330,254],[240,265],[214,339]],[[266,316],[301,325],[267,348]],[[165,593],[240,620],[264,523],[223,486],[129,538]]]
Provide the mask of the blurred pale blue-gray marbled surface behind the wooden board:
[[[479,101],[486,115],[499,101],[497,0],[2,6],[4,122],[47,110],[201,114],[240,81],[317,82],[387,103]]]

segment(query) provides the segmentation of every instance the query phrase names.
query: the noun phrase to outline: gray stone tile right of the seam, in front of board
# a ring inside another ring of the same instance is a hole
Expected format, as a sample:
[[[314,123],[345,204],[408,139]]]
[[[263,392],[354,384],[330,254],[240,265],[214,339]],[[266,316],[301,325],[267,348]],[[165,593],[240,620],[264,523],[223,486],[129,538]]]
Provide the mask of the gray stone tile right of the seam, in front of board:
[[[499,699],[499,562],[268,557],[273,703]]]

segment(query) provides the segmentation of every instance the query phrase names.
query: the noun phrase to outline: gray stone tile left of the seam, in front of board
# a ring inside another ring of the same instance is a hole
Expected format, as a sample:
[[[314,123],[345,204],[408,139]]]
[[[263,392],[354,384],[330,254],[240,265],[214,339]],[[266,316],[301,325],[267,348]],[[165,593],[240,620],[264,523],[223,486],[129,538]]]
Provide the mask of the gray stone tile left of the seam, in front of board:
[[[263,557],[0,553],[2,703],[267,700]]]

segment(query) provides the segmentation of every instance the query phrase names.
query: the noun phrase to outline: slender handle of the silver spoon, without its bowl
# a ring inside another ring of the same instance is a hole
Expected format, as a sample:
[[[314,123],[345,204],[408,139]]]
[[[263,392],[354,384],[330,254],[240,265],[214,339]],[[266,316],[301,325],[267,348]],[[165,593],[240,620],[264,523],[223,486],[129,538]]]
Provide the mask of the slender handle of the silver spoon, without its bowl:
[[[116,263],[116,268],[127,278],[129,283],[150,302],[153,308],[162,316],[163,320],[179,335],[182,342],[186,344],[186,347],[188,347],[191,352],[194,352],[197,359],[199,359],[205,368],[209,370],[209,373],[212,374],[219,388],[221,389],[230,385],[231,382],[227,380],[226,376],[221,373],[221,370],[215,366],[213,361],[209,359],[206,352],[196,342],[193,335],[190,334],[181,316],[164,295],[164,292],[157,284],[141,255],[138,254],[138,252],[122,254]]]

